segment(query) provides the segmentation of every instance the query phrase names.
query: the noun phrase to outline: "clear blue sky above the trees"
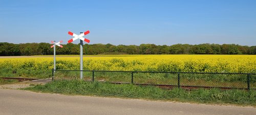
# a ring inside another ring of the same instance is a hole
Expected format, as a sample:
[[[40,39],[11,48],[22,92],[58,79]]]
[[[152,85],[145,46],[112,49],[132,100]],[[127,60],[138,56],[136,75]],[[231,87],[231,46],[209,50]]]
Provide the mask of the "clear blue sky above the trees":
[[[256,45],[256,1],[0,0],[0,42],[50,43],[86,36],[90,44]],[[78,40],[74,43],[78,43]]]

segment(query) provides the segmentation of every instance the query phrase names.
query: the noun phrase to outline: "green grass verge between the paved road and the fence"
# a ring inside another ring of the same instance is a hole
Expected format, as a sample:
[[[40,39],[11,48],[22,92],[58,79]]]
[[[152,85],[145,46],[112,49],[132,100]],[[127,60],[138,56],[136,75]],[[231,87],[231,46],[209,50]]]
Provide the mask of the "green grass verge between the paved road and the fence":
[[[108,82],[88,82],[82,80],[56,80],[24,90],[66,95],[256,106],[256,91],[254,90],[250,92],[244,90],[222,91],[220,89],[199,89],[193,91],[182,89],[164,90],[151,86],[145,87],[133,84],[111,84]]]

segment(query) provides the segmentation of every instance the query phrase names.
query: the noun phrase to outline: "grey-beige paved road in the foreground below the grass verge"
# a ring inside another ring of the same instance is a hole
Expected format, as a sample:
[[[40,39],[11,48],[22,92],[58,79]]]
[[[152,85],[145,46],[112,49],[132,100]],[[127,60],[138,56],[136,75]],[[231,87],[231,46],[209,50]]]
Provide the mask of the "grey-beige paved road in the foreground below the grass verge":
[[[256,108],[0,89],[0,114],[256,114]]]

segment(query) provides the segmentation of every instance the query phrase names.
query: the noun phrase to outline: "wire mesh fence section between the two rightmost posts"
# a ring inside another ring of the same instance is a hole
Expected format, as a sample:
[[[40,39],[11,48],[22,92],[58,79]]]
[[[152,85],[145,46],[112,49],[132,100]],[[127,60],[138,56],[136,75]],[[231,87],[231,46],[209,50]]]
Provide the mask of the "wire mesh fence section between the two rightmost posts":
[[[239,74],[181,74],[181,85],[202,88],[247,89],[247,75]]]

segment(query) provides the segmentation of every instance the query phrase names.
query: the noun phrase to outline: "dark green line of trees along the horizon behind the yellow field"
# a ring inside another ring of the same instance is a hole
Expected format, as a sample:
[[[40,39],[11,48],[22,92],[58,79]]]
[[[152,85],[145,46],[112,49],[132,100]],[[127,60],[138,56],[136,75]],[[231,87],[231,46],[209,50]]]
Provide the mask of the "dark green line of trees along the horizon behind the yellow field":
[[[13,44],[0,42],[1,56],[15,55],[51,55],[50,43]],[[56,54],[80,54],[80,44],[64,44],[56,47]],[[85,44],[83,54],[256,54],[256,46],[238,44],[175,44],[175,45],[112,45]]]

